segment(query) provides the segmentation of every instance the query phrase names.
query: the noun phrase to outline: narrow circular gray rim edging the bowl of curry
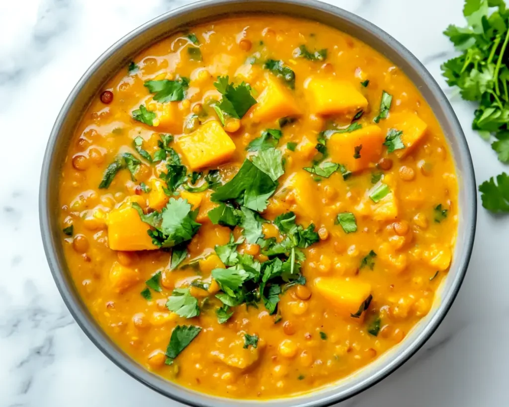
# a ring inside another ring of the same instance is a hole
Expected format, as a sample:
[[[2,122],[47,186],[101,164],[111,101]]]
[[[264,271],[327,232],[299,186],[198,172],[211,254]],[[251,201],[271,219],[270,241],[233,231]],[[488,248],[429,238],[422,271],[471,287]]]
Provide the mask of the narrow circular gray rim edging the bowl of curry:
[[[150,373],[145,367],[131,359],[125,352],[121,351],[116,345],[114,345],[114,343],[110,340],[106,333],[98,326],[95,320],[91,321],[91,316],[87,315],[88,310],[87,309],[83,310],[83,307],[78,303],[79,300],[77,300],[75,295],[72,294],[73,288],[70,287],[69,281],[64,277],[65,271],[60,267],[60,259],[58,259],[58,255],[56,255],[55,245],[51,236],[52,225],[50,222],[50,218],[52,208],[48,204],[48,196],[50,194],[49,191],[49,177],[51,174],[50,165],[56,145],[58,144],[60,139],[60,133],[62,131],[61,128],[63,122],[65,120],[65,117],[69,113],[71,106],[75,102],[77,95],[83,90],[84,86],[92,78],[96,69],[102,66],[110,56],[114,55],[122,45],[129,43],[130,41],[137,38],[141,34],[150,30],[152,27],[160,23],[163,23],[167,20],[171,20],[179,15],[190,14],[195,12],[196,10],[211,6],[227,4],[229,6],[235,7],[249,2],[250,0],[233,0],[233,1],[202,0],[199,2],[187,4],[185,6],[161,14],[158,17],[155,17],[154,19],[132,30],[130,33],[128,33],[120,40],[118,40],[114,45],[109,47],[93,62],[93,64],[88,68],[88,70],[82,75],[82,77],[76,83],[76,85],[70,92],[68,98],[66,99],[51,130],[46,151],[44,154],[41,171],[40,190],[39,190],[39,222],[41,227],[44,251],[55,284],[71,315],[73,316],[79,327],[83,330],[83,332],[89,337],[89,339],[94,343],[94,345],[109,360],[114,362],[117,366],[119,366],[122,370],[124,370],[126,373],[128,373],[131,377],[133,377],[140,383],[145,384],[147,387],[157,391],[162,395],[165,395],[166,397],[172,398],[176,401],[179,401],[187,405],[209,407],[212,405],[230,406],[241,404],[247,405],[246,403],[258,404],[259,402],[254,400],[225,399],[207,393],[189,390],[180,385],[177,385],[174,382],[169,382],[165,379],[162,379],[159,376],[155,377],[156,376],[155,374]],[[399,54],[403,59],[406,59],[406,61],[412,67],[412,69],[414,69],[418,74],[420,74],[427,83],[429,90],[433,93],[433,96],[438,101],[439,105],[438,108],[441,111],[443,111],[450,127],[453,128],[454,136],[456,137],[458,142],[459,155],[461,156],[461,161],[463,163],[462,178],[464,190],[466,193],[465,197],[466,204],[464,205],[464,207],[462,207],[462,215],[464,215],[463,222],[466,225],[465,226],[467,235],[466,247],[464,250],[463,258],[459,260],[460,263],[458,266],[458,272],[455,275],[453,282],[451,283],[451,288],[449,289],[447,295],[440,300],[440,304],[437,307],[435,315],[427,323],[427,329],[424,329],[423,332],[419,334],[418,337],[414,338],[411,343],[408,343],[407,346],[401,352],[401,354],[397,356],[393,362],[391,362],[388,366],[385,366],[383,369],[380,369],[382,370],[381,373],[375,371],[371,375],[371,377],[367,378],[366,380],[363,380],[357,385],[352,386],[351,388],[348,388],[340,393],[337,394],[331,393],[328,395],[320,396],[320,390],[322,390],[322,388],[317,388],[315,390],[311,390],[308,393],[299,394],[297,396],[290,396],[282,399],[278,398],[260,400],[264,404],[279,405],[280,407],[286,407],[290,405],[296,407],[327,406],[332,405],[339,401],[346,400],[366,390],[367,388],[374,386],[375,384],[386,378],[393,371],[401,367],[426,343],[426,341],[436,331],[436,329],[444,319],[445,315],[449,311],[463,283],[467,271],[467,266],[472,254],[472,247],[475,236],[476,217],[477,217],[477,199],[476,199],[477,192],[475,186],[473,163],[465,135],[461,128],[461,124],[438,83],[435,81],[433,76],[427,71],[427,69],[421,64],[421,62],[410,51],[408,51],[402,44],[400,44],[394,38],[385,33],[384,30],[382,30],[375,24],[357,16],[354,13],[338,8],[336,6],[332,6],[327,3],[323,3],[318,0],[256,0],[256,3],[295,5],[309,9],[318,9],[322,12],[333,14],[344,20],[348,20],[349,23],[352,23],[360,30],[367,32],[372,36],[383,38],[387,43],[387,47],[390,48],[395,53]],[[271,12],[267,12],[266,14],[270,13]],[[233,10],[231,14],[232,15],[249,14],[249,12],[242,10],[240,11]],[[281,12],[280,14],[284,15],[288,13]],[[219,17],[224,16],[217,15],[217,18]],[[310,20],[313,19],[311,18]],[[341,30],[341,27],[338,29]],[[148,45],[146,45],[146,47],[147,46]],[[378,52],[382,52],[381,50],[376,48],[375,50]],[[432,108],[432,110],[436,114],[436,110],[438,109]],[[458,170],[457,164],[458,161],[455,160],[456,170]],[[331,385],[331,388],[333,387],[335,387],[334,384]],[[309,396],[312,393],[316,393],[317,395],[315,400],[303,400],[304,397]],[[213,402],[213,400],[215,401]],[[289,401],[291,403],[285,403],[285,401]]]

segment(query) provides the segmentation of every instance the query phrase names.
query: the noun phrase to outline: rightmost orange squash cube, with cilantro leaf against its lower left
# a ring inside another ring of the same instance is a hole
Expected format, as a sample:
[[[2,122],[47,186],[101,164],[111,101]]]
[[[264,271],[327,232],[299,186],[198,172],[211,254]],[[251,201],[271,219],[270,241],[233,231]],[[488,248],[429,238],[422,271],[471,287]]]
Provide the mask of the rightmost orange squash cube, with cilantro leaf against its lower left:
[[[383,123],[384,128],[402,131],[401,141],[405,148],[395,150],[399,158],[410,154],[415,146],[425,137],[428,124],[422,121],[419,116],[411,112],[391,113]]]

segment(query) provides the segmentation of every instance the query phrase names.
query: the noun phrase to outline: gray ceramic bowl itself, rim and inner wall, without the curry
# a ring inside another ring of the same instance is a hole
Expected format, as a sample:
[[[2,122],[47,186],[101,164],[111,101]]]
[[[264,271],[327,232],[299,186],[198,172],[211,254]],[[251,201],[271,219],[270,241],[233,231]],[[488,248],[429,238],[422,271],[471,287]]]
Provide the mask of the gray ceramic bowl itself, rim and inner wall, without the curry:
[[[409,332],[399,346],[349,378],[314,392],[285,399],[231,400],[197,393],[158,377],[132,360],[105,335],[81,301],[69,277],[62,250],[61,227],[58,224],[58,189],[60,167],[66,155],[70,135],[73,134],[81,114],[102,85],[133,56],[186,26],[235,13],[260,12],[303,17],[336,27],[378,50],[406,73],[433,108],[453,151],[460,184],[460,221],[453,264],[437,295],[439,300],[428,316]],[[136,380],[180,402],[204,407],[262,403],[267,407],[330,405],[385,378],[425,343],[453,303],[470,259],[477,213],[474,172],[465,136],[453,109],[429,72],[408,50],[380,28],[342,9],[312,0],[206,0],[163,14],[122,38],[102,54],[83,75],[56,118],[44,156],[39,199],[42,238],[48,263],[62,297],[81,329],[110,360]]]

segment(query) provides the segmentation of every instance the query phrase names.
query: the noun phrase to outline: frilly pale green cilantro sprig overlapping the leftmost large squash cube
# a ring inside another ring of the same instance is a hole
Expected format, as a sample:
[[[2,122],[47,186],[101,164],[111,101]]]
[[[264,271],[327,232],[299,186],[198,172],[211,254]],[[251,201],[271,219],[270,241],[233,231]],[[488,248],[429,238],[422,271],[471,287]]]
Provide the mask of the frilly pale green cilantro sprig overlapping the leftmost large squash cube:
[[[154,211],[147,215],[137,203],[132,203],[132,207],[138,211],[143,222],[154,228],[147,233],[158,247],[174,247],[191,240],[202,226],[194,221],[197,211],[191,211],[191,205],[182,198],[170,198],[161,212]]]

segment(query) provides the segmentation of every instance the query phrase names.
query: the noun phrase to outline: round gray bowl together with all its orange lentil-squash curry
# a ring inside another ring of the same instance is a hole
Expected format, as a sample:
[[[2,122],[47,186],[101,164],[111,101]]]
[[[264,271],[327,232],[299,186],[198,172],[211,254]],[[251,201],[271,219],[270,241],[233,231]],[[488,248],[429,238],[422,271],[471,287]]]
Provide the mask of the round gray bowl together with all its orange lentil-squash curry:
[[[58,288],[95,345],[190,405],[327,405],[434,332],[475,181],[431,75],[314,1],[206,1],[81,78],[43,164]]]

